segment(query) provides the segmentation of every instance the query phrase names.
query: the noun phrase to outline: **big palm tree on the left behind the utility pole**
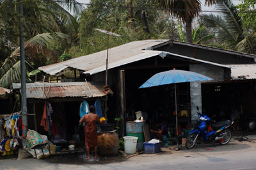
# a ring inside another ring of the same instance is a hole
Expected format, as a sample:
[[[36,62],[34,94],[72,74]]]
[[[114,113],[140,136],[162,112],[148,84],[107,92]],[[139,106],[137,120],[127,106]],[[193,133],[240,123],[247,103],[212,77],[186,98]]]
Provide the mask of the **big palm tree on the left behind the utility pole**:
[[[0,1],[0,40],[4,40],[4,43],[15,48],[0,66],[0,83],[4,82],[2,85],[5,87],[6,82],[9,82],[8,76],[12,77],[10,78],[12,82],[19,80],[17,76],[19,74],[17,68],[20,66],[19,48],[17,48],[19,46],[16,44],[19,44],[19,22],[17,20],[20,20],[20,15],[17,12],[17,6],[15,0]],[[57,40],[68,40],[77,35],[76,19],[64,7],[73,10],[74,13],[79,13],[83,10],[83,6],[75,0],[65,0],[60,3],[54,0],[27,0],[23,1],[23,6],[24,15],[21,20],[25,29],[27,64],[29,61],[33,63],[42,61],[45,64],[46,56],[56,62],[56,54],[48,49],[48,44],[56,43]]]

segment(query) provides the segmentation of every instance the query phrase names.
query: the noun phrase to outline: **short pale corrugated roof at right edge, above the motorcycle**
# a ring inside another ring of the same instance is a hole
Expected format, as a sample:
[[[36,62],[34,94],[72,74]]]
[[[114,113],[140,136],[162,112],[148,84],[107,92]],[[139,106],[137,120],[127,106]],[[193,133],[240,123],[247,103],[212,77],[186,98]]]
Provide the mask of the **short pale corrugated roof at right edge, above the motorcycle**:
[[[232,80],[256,79],[256,65],[228,65],[231,69]]]

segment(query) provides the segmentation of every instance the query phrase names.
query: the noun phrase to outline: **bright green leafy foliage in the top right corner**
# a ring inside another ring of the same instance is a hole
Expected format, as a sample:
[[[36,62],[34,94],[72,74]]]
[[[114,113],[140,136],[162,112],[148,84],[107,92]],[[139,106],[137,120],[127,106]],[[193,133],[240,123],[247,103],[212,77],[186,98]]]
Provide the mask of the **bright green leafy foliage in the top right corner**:
[[[249,32],[256,31],[256,0],[243,0],[242,3],[237,4],[239,16],[243,20],[244,29]]]

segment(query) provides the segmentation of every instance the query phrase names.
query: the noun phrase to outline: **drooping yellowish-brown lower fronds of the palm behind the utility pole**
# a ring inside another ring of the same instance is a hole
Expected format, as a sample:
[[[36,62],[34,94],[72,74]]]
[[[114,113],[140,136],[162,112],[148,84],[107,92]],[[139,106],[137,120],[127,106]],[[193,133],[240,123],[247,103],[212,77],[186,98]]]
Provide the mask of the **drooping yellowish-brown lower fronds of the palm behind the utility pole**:
[[[51,60],[52,63],[56,63],[58,58],[56,53],[52,50],[47,49],[47,43],[54,41],[61,41],[68,38],[67,35],[62,33],[55,33],[54,37],[49,36],[50,33],[45,33],[42,35],[37,35],[28,42],[25,43],[25,58],[27,66],[32,70],[35,70],[31,66],[31,63],[36,66],[43,65],[47,58]],[[19,82],[20,81],[20,49],[17,48],[12,52],[12,54],[5,59],[4,63],[2,63],[0,67],[0,86],[8,88],[10,86],[10,76],[11,82]],[[28,68],[28,70],[29,70]]]

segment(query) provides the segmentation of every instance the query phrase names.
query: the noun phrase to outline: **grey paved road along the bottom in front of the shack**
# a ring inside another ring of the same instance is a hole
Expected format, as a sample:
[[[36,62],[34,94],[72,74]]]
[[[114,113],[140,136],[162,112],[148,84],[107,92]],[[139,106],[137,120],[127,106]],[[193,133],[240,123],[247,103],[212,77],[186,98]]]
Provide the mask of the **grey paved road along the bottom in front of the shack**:
[[[51,157],[0,160],[0,169],[256,169],[256,141],[232,141],[225,146],[200,144],[191,150],[168,150],[141,154],[129,159],[122,156],[100,157],[84,161],[82,157]]]

